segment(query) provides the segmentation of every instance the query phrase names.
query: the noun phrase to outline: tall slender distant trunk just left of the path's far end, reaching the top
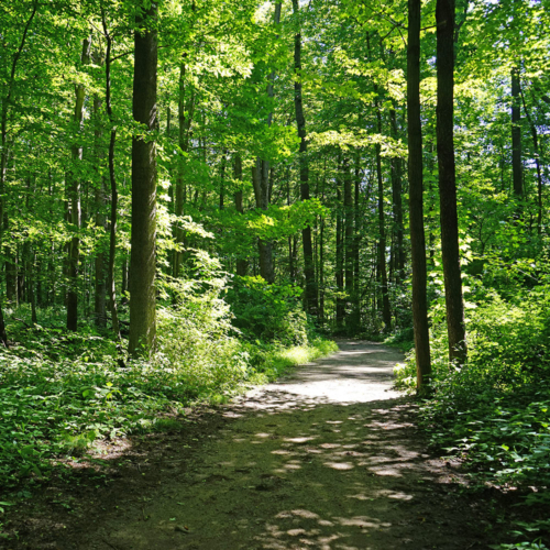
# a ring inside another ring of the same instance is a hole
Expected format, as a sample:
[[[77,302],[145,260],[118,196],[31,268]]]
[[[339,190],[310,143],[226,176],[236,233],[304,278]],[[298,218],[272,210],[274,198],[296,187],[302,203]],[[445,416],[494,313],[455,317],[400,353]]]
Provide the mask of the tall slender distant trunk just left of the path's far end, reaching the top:
[[[299,3],[293,0],[294,16],[297,20],[298,32],[294,37],[294,106],[296,109],[296,124],[300,139],[299,164],[300,164],[300,199],[309,200],[309,162],[307,157],[306,117],[304,114],[304,98],[301,86],[301,22],[299,21]],[[304,275],[306,277],[306,309],[314,316],[318,316],[317,283],[315,278],[314,249],[311,244],[311,227],[301,230],[301,242],[304,248]]]

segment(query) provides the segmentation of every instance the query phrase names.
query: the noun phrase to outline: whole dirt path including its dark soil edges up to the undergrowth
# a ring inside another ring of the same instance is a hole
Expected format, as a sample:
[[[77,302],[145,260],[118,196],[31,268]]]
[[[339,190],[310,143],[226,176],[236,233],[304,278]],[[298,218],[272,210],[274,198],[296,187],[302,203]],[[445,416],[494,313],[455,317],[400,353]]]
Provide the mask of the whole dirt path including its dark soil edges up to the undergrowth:
[[[4,525],[8,549],[480,549],[504,503],[427,450],[399,352],[340,351],[178,431],[106,446]],[[107,465],[106,465],[107,464]]]

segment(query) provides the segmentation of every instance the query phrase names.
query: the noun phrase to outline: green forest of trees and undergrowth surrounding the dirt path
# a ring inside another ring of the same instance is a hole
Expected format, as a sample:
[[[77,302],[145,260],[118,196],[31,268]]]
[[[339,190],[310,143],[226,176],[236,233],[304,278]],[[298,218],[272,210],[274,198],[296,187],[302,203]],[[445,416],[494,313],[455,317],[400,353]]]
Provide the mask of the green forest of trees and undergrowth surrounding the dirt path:
[[[2,2],[0,537],[101,441],[346,338],[406,353],[430,446],[531,515],[494,548],[547,548],[549,29],[548,0]]]

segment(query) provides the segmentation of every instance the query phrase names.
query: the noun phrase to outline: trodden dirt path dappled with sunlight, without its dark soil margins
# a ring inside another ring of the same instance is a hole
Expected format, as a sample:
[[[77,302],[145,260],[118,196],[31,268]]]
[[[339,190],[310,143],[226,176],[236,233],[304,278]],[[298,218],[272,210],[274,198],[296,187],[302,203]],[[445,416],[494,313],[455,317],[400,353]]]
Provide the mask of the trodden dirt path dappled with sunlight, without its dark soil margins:
[[[475,549],[483,510],[430,457],[415,405],[392,389],[403,358],[340,342],[332,358],[220,410],[216,438],[146,505],[121,499],[94,538],[59,549]]]

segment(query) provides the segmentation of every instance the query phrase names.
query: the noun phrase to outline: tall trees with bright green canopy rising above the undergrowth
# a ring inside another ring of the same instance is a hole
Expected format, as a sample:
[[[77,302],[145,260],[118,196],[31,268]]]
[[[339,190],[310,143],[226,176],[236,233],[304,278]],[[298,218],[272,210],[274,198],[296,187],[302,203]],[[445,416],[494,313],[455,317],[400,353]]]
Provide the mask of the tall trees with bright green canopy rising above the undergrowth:
[[[461,1],[454,22],[450,1],[408,7],[2,11],[7,318],[130,322],[130,351],[152,351],[155,309],[216,264],[293,288],[327,331],[414,324],[419,385],[431,311],[463,364],[462,278],[548,245],[550,21],[516,0]]]

